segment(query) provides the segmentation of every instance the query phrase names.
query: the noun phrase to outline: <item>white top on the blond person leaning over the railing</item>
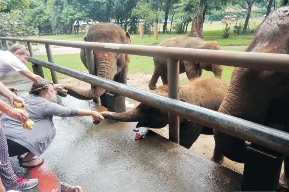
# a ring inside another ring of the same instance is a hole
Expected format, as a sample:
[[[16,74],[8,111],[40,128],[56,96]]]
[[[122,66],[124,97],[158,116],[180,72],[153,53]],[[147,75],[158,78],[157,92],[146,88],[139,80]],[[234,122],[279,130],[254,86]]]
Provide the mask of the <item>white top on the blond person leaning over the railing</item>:
[[[0,50],[0,77],[6,75],[11,71],[28,70],[27,66],[23,64],[15,55],[10,51]]]

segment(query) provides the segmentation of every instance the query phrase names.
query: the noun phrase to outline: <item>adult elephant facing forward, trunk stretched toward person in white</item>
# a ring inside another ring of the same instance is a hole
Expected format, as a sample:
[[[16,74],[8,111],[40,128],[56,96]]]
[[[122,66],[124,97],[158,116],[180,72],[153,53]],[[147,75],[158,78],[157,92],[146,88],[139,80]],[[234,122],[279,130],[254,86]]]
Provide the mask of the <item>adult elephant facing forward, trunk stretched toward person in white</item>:
[[[131,44],[129,32],[125,32],[121,27],[112,23],[98,23],[90,26],[83,40],[88,42]],[[130,63],[129,54],[94,50],[93,55],[96,69],[94,73],[97,76],[127,84],[128,64]],[[85,49],[80,50],[80,58],[88,69]],[[100,87],[90,90],[82,90],[66,85],[63,85],[63,87],[68,90],[67,94],[82,100],[96,99],[107,91]],[[66,96],[62,93],[58,94]]]

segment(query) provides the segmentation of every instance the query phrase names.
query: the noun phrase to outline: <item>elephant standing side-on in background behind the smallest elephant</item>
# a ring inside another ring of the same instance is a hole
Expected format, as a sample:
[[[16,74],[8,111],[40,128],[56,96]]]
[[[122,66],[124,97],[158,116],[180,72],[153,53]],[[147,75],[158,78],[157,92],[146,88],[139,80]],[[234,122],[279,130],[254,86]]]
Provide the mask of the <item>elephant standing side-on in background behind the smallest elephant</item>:
[[[162,41],[158,46],[220,50],[220,46],[216,41],[204,41],[199,37],[183,35],[168,38]],[[159,76],[161,76],[163,85],[168,84],[167,58],[154,57],[153,62],[154,70],[148,84],[148,87],[151,90],[156,89],[156,83]],[[194,61],[180,61],[180,73],[186,72],[189,80],[200,77],[202,75],[202,69],[213,71],[215,77],[221,78],[223,66],[217,64],[197,63]]]

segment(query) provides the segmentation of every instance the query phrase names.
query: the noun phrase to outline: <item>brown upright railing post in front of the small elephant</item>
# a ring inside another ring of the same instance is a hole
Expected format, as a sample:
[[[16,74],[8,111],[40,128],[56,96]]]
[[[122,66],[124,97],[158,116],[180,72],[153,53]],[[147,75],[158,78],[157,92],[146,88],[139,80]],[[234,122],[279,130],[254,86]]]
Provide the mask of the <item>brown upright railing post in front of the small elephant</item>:
[[[180,62],[168,58],[168,94],[170,98],[179,99]],[[180,118],[169,113],[169,139],[180,144]]]

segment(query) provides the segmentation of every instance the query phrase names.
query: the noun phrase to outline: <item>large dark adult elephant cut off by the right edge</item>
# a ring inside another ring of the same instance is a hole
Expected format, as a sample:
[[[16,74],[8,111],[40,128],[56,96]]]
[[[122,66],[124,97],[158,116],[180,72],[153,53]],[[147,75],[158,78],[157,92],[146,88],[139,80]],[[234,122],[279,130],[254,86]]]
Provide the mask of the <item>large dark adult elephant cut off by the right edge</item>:
[[[271,13],[259,26],[247,52],[289,54],[289,7]],[[289,62],[289,61],[288,61]],[[289,74],[235,67],[228,92],[218,110],[231,116],[289,132]],[[212,160],[222,163],[223,155],[245,161],[245,141],[215,131]],[[289,188],[289,157],[280,187]]]

